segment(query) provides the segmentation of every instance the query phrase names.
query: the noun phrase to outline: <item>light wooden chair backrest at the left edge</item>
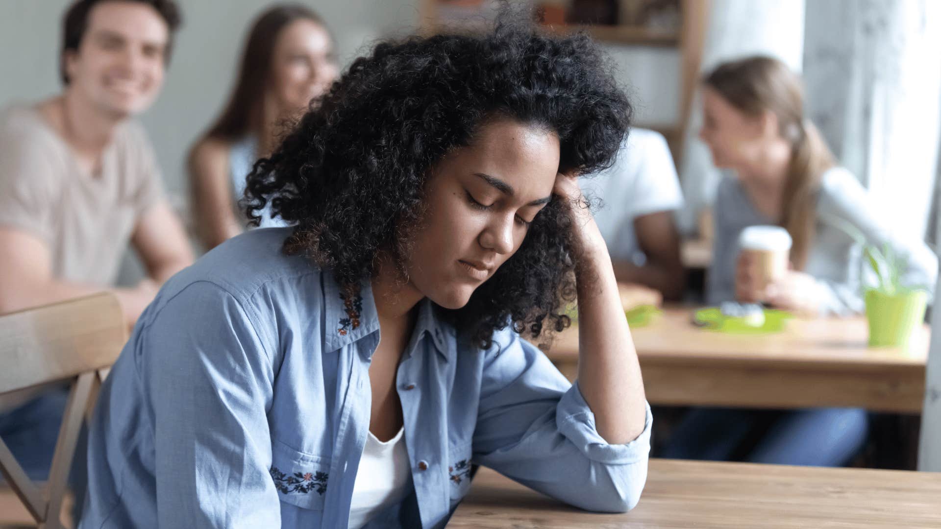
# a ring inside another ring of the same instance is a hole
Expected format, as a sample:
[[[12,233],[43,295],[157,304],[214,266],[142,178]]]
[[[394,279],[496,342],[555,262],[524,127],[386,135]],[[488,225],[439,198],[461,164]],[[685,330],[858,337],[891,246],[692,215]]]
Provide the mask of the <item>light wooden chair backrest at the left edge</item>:
[[[90,417],[106,369],[118,359],[125,340],[120,303],[111,294],[0,316],[0,396],[72,381],[49,479],[43,486],[26,476],[0,439],[0,472],[40,527],[60,527],[59,511],[82,419]]]

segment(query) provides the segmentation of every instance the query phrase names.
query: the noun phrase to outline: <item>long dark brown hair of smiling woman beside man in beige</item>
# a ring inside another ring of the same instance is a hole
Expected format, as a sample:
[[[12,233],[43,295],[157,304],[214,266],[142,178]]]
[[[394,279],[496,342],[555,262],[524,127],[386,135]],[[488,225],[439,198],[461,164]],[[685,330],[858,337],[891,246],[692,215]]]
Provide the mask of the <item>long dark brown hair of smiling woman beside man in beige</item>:
[[[264,88],[270,79],[275,43],[282,29],[301,19],[327,29],[320,15],[299,4],[279,4],[259,15],[248,33],[229,104],[206,136],[234,141],[261,126]]]

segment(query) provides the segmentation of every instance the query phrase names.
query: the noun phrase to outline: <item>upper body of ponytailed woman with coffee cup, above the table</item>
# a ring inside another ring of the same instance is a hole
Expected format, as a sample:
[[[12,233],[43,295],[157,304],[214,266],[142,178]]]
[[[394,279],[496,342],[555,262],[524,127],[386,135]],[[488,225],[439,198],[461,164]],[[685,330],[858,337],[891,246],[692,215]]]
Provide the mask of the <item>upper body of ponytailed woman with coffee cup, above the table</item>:
[[[719,66],[704,84],[700,137],[715,165],[736,175],[716,197],[710,303],[762,299],[804,313],[862,313],[862,252],[847,225],[905,256],[903,281],[933,288],[932,250],[916,233],[889,232],[867,190],[837,166],[805,119],[800,78],[787,66],[748,57]],[[757,291],[751,264],[736,248],[739,233],[758,224],[783,226],[794,241],[792,269],[767,292]]]

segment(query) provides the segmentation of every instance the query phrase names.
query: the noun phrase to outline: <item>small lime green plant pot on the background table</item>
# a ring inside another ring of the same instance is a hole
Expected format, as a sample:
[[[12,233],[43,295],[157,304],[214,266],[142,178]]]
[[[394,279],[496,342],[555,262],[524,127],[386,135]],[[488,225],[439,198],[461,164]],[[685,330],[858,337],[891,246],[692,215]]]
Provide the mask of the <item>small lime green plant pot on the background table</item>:
[[[866,291],[866,318],[869,320],[869,346],[908,345],[909,339],[925,321],[928,293],[913,290],[889,296],[878,290]]]

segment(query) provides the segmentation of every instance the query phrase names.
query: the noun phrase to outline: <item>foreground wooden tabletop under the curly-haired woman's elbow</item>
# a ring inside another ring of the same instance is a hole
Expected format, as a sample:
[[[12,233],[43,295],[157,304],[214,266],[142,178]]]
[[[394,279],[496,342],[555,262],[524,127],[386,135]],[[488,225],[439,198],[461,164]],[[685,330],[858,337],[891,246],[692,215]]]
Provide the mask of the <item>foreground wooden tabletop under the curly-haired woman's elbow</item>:
[[[640,504],[600,514],[482,468],[448,527],[937,529],[941,473],[651,459]]]

